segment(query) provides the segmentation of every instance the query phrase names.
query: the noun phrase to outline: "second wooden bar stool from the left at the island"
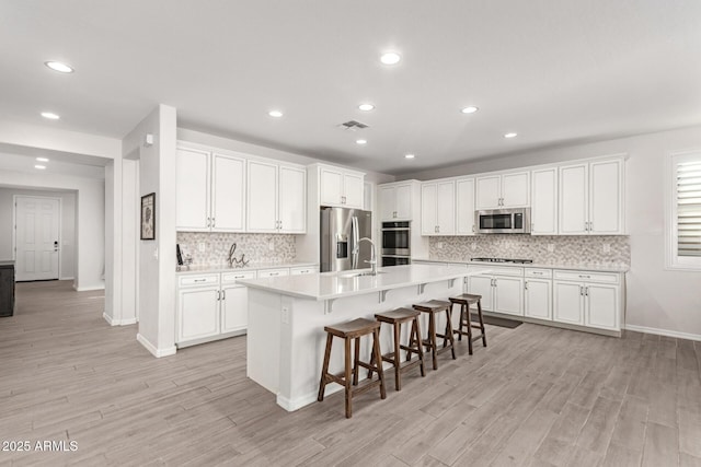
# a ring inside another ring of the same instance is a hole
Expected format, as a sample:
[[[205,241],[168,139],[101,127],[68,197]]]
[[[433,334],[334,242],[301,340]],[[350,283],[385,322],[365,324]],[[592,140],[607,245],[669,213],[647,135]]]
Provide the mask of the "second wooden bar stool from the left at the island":
[[[394,351],[382,355],[382,360],[390,362],[394,365],[394,389],[402,389],[402,376],[401,373],[413,366],[418,365],[421,367],[421,375],[426,376],[426,370],[424,367],[424,350],[421,346],[421,325],[418,324],[420,312],[410,308],[397,308],[391,312],[378,313],[375,315],[375,319],[380,323],[387,323],[392,325],[394,331]],[[402,324],[411,323],[412,328],[409,332],[409,345],[402,346],[400,342],[400,335],[402,331]],[[406,350],[406,361],[402,363],[400,351]],[[418,359],[412,360],[412,353],[417,353]],[[375,355],[371,362],[375,361]],[[372,370],[368,377],[372,376]]]

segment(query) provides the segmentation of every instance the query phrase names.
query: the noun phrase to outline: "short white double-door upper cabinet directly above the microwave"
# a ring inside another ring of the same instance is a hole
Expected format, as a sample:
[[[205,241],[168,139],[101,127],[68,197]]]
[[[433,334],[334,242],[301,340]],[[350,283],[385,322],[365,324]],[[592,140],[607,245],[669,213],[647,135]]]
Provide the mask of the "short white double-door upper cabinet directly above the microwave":
[[[478,176],[476,209],[526,208],[529,206],[530,172]]]

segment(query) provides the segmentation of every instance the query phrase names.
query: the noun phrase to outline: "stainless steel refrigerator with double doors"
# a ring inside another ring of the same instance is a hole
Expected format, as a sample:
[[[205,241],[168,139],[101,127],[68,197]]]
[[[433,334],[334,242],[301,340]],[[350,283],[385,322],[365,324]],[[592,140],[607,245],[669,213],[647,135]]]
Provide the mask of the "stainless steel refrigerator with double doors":
[[[321,208],[321,272],[369,268],[372,245],[363,237],[372,238],[370,211]]]

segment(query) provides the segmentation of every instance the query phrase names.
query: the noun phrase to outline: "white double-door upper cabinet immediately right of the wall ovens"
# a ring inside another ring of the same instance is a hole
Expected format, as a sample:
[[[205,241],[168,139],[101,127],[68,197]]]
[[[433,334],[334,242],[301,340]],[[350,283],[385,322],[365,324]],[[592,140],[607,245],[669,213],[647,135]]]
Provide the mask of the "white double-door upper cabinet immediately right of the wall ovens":
[[[422,235],[456,234],[456,182],[436,180],[421,187]]]

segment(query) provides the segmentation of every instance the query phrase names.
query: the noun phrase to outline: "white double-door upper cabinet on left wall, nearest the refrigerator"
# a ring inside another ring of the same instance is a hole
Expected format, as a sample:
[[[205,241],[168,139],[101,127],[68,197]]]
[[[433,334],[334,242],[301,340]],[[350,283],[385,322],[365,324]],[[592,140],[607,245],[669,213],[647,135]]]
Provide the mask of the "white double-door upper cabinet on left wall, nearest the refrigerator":
[[[251,160],[248,173],[248,231],[304,233],[307,172]]]

